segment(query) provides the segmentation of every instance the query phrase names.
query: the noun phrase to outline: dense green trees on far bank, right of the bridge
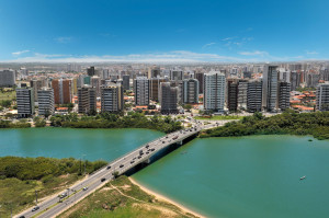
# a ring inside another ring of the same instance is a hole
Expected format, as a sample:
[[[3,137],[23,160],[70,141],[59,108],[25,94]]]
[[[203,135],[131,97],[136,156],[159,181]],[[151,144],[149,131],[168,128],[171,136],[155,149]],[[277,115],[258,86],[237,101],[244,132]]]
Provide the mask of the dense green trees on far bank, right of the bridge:
[[[201,137],[227,137],[249,135],[313,135],[318,139],[329,139],[329,112],[298,114],[287,110],[283,114],[264,117],[261,113],[246,116],[239,122],[205,130]]]

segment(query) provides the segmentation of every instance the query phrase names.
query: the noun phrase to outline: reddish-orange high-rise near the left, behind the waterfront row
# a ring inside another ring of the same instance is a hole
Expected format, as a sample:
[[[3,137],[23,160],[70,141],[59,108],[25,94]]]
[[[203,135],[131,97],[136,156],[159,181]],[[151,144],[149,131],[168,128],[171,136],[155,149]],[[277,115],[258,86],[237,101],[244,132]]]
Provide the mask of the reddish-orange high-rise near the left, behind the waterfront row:
[[[53,80],[52,88],[54,89],[55,104],[71,103],[71,80]]]

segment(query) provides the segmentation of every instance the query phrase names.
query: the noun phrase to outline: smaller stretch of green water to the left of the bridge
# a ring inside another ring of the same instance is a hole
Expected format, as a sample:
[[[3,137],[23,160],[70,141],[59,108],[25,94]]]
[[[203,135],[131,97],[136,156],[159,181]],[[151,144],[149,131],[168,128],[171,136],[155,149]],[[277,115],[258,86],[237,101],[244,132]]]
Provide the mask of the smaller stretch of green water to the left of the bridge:
[[[83,157],[111,161],[163,135],[148,129],[1,129],[0,157]]]

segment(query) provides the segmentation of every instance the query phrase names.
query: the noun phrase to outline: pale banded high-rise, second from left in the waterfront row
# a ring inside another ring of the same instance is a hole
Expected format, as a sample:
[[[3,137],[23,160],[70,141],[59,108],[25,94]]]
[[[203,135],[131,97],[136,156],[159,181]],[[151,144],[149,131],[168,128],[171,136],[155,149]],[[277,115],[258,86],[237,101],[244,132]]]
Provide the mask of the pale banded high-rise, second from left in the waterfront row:
[[[55,112],[54,89],[42,88],[37,91],[38,114],[52,115]]]

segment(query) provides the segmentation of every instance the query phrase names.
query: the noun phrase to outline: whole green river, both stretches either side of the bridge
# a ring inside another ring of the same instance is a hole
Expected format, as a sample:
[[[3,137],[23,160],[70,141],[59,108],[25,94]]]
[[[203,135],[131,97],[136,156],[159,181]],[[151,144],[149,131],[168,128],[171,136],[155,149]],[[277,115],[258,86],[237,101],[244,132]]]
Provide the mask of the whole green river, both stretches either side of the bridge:
[[[0,156],[111,161],[162,135],[148,129],[1,129]],[[192,140],[133,177],[207,217],[322,218],[329,214],[328,172],[328,140],[251,136]]]

